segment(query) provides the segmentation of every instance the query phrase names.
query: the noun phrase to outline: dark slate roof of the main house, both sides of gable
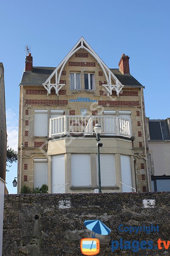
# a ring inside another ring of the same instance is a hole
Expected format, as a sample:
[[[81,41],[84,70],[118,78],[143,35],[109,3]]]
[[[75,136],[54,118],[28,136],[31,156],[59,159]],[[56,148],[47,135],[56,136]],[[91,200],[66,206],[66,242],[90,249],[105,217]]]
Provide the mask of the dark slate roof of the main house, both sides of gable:
[[[23,73],[23,77],[21,79],[20,84],[28,85],[28,86],[40,86],[44,83],[51,73],[55,70],[55,67],[33,67],[32,72],[26,71]],[[113,74],[119,79],[119,81],[125,85],[125,87],[142,87],[133,76],[130,74],[123,75],[119,69],[110,69]]]

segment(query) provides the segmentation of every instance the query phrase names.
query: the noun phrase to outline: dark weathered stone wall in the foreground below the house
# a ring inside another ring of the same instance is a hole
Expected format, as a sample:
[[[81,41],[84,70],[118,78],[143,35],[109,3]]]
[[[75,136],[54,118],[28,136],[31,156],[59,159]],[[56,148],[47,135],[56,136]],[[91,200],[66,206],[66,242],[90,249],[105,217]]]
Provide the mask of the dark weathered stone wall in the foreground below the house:
[[[6,195],[3,256],[82,255],[80,240],[92,237],[85,220],[99,219],[111,228],[108,236],[96,235],[99,255],[170,255],[169,250],[111,251],[111,240],[170,239],[170,192]],[[159,226],[159,232],[129,234],[124,226]],[[123,226],[122,226],[123,227]]]

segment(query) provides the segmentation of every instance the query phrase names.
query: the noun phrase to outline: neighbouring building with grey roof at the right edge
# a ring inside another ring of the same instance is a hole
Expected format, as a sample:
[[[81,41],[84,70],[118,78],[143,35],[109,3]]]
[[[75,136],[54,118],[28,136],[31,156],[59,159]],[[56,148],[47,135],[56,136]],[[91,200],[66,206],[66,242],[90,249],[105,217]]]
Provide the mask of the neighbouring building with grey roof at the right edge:
[[[152,191],[170,191],[170,118],[147,123]]]

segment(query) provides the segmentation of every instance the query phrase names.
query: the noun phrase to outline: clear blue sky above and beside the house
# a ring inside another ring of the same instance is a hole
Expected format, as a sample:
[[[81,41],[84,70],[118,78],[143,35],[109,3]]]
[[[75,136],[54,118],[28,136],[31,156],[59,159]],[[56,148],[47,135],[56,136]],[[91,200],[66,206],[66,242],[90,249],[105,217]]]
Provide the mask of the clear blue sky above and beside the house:
[[[122,53],[145,86],[146,115],[170,117],[169,0],[5,0],[0,3],[0,62],[5,69],[8,145],[17,150],[19,87],[26,44],[34,66],[56,67],[83,36],[110,68]],[[17,164],[7,173],[7,187]]]

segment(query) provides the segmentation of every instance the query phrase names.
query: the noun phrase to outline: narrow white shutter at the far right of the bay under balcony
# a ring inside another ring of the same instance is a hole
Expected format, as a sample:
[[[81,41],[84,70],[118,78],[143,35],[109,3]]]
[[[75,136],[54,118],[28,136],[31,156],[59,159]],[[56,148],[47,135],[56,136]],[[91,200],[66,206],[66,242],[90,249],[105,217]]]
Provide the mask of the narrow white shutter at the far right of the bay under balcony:
[[[121,173],[122,173],[122,183],[132,186],[131,177],[131,166],[130,166],[130,156],[121,155]],[[132,192],[132,189],[128,186],[122,185],[122,192]]]

